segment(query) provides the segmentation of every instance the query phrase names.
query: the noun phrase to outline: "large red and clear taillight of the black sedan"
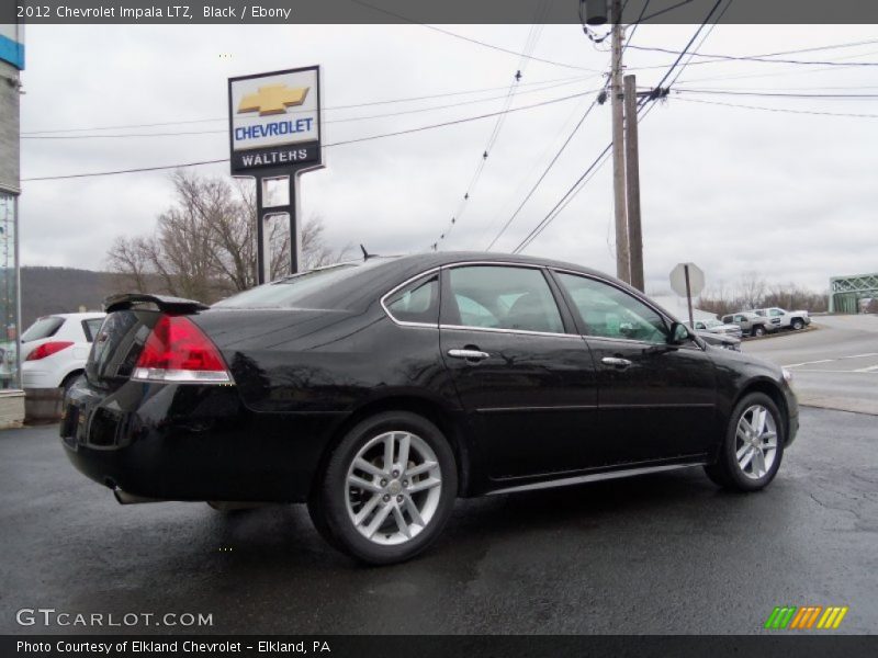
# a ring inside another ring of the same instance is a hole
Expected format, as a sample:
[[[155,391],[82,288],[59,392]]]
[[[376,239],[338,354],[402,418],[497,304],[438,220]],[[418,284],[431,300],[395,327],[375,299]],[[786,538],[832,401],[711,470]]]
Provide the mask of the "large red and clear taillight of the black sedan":
[[[194,322],[164,315],[146,339],[132,379],[183,383],[230,383],[219,350]]]

